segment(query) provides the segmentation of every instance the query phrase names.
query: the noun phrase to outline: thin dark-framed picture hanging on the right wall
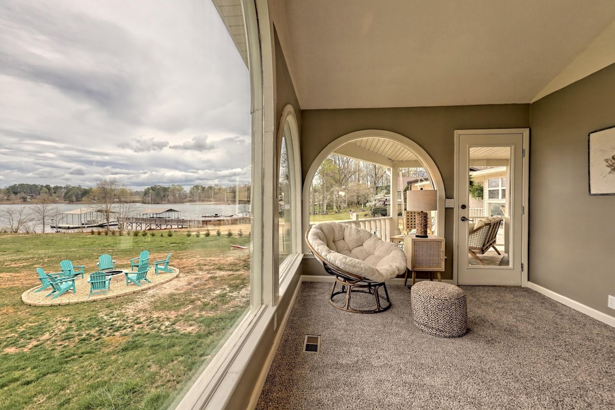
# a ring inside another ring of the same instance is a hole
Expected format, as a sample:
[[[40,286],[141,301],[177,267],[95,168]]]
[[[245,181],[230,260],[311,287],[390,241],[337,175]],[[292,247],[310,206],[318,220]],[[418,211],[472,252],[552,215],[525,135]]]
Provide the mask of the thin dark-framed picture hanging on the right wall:
[[[589,194],[615,195],[615,125],[590,132],[587,144]]]

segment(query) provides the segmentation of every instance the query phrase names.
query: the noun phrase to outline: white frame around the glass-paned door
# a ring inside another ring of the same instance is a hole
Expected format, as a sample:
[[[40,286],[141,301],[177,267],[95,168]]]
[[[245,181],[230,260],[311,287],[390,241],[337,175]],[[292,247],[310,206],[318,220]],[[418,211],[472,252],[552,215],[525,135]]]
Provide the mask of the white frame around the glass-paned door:
[[[482,135],[482,134],[523,134],[523,158],[522,158],[522,199],[521,204],[523,207],[522,213],[522,239],[521,239],[521,263],[522,263],[522,272],[521,272],[521,286],[525,287],[528,283],[528,216],[530,215],[530,208],[528,195],[530,192],[530,178],[529,178],[529,170],[530,170],[530,128],[500,128],[500,129],[491,129],[491,130],[455,130],[454,133],[454,144],[455,144],[455,160],[454,160],[454,198],[455,198],[455,207],[454,207],[454,220],[453,231],[454,231],[454,245],[453,245],[453,283],[457,284],[458,282],[458,261],[459,261],[459,243],[458,243],[458,235],[459,235],[459,199],[461,195],[459,194],[459,136],[460,135]],[[466,250],[467,251],[467,250]]]

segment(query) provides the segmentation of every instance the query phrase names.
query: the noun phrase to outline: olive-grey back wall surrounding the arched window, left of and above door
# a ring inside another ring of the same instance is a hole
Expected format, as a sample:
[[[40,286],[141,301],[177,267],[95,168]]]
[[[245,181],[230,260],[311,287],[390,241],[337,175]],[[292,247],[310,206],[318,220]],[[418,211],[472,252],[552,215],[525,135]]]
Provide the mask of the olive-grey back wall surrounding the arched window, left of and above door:
[[[442,174],[446,197],[452,198],[454,130],[527,128],[530,126],[530,104],[304,110],[302,119],[303,178],[315,157],[336,138],[358,130],[387,130],[407,136],[427,151]],[[442,277],[448,279],[453,278],[453,211],[453,208],[445,211],[447,259]],[[303,267],[304,275],[316,273],[315,264],[306,261]]]

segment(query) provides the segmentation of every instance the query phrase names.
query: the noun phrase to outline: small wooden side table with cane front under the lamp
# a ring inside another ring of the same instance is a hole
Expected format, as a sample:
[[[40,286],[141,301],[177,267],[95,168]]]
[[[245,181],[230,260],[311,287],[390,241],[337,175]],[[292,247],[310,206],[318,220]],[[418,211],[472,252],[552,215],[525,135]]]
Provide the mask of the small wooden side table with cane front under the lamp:
[[[427,235],[426,238],[418,238],[416,235],[406,235],[403,239],[403,253],[406,254],[408,268],[404,286],[408,283],[408,272],[412,272],[412,285],[416,282],[416,272],[429,272],[430,280],[434,280],[436,272],[438,282],[442,282],[440,272],[444,271],[443,237]]]

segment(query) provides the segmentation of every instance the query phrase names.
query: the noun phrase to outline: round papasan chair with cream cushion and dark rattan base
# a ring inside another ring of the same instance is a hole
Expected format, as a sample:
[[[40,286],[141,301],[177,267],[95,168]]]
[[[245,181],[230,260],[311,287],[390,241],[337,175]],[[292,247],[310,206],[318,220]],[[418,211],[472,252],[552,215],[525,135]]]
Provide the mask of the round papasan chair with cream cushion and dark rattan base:
[[[329,296],[333,306],[354,313],[378,313],[391,307],[384,281],[406,270],[406,256],[397,244],[337,222],[315,224],[306,232],[306,242],[325,271],[335,276]],[[372,294],[373,302],[365,304],[361,298],[352,306],[353,293]],[[336,298],[340,294],[345,298]]]

